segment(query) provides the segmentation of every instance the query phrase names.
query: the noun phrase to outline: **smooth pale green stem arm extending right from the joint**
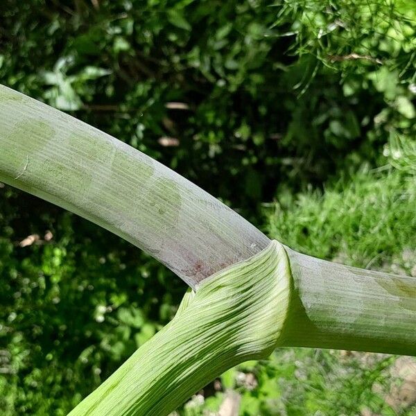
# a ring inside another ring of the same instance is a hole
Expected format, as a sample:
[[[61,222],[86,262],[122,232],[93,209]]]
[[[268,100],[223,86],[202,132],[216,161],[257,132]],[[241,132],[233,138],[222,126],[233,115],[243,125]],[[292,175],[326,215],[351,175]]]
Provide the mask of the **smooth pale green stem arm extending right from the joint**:
[[[294,290],[281,345],[416,356],[416,278],[287,249]]]

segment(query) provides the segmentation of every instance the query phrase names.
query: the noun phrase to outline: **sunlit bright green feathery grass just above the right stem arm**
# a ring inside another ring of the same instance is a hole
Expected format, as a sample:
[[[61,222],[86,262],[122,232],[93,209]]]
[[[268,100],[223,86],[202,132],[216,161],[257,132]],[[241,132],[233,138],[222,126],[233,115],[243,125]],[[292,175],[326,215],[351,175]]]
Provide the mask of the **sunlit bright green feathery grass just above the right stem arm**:
[[[404,250],[410,261],[416,249],[416,175],[386,168],[358,173],[324,193],[282,193],[269,216],[270,235],[311,256],[404,272]]]

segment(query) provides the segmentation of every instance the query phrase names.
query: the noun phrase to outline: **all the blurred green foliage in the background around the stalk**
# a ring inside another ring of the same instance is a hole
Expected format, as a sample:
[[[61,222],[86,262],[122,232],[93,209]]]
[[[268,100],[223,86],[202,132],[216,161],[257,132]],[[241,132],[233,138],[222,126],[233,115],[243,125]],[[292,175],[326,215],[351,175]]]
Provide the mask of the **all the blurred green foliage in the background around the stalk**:
[[[416,275],[415,32],[414,0],[3,0],[0,81],[297,250]],[[3,184],[0,285],[6,416],[66,414],[185,290],[125,241]],[[215,415],[232,390],[241,415],[412,415],[416,370],[402,361],[278,351],[177,412]]]

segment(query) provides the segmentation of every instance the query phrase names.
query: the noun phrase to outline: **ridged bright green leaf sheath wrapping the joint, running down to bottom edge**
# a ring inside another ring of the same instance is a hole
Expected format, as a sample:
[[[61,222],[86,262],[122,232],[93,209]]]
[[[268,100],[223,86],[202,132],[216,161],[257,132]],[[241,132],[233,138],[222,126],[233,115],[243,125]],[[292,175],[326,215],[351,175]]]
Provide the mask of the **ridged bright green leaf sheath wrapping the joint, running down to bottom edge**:
[[[167,415],[229,367],[266,358],[286,318],[290,280],[277,241],[205,279],[175,318],[69,415]]]

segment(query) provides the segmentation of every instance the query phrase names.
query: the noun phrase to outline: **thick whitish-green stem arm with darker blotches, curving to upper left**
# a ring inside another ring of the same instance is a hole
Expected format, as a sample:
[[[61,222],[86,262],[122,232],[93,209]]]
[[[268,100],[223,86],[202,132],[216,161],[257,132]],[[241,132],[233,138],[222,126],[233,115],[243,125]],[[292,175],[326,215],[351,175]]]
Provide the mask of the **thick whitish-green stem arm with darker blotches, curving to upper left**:
[[[0,181],[109,229],[193,288],[270,243],[151,157],[2,85]]]

